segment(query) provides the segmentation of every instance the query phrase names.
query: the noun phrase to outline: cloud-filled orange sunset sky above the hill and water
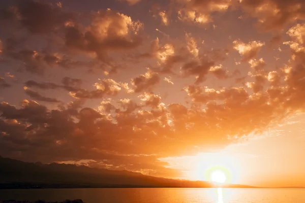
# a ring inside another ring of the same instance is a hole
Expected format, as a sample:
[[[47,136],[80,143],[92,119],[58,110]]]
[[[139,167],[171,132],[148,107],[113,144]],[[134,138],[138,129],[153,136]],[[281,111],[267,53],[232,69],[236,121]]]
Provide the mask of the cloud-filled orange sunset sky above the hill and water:
[[[305,187],[303,0],[0,2],[0,155]]]

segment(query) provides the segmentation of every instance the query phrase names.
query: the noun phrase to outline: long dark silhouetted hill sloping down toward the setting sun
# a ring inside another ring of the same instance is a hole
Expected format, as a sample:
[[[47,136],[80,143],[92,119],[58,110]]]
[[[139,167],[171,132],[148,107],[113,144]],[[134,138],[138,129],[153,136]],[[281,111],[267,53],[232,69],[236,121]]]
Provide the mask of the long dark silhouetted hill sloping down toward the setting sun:
[[[205,181],[174,180],[74,164],[29,163],[0,157],[0,188],[215,187]],[[250,187],[224,185],[224,187]]]

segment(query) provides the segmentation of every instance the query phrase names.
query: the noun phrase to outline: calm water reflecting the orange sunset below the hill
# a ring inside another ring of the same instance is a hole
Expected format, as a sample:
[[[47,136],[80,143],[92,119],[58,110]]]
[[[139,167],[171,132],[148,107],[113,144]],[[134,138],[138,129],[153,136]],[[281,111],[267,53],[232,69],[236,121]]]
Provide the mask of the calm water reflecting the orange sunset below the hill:
[[[305,189],[98,188],[0,190],[0,199],[86,203],[305,203]]]

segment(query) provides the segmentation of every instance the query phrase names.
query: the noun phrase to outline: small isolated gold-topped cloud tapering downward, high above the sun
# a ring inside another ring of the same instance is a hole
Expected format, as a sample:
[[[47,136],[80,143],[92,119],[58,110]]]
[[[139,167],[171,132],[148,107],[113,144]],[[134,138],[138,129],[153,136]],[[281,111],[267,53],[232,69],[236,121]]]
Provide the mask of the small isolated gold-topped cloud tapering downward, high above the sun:
[[[235,40],[233,42],[233,48],[239,52],[243,61],[249,61],[257,55],[264,44],[265,43],[260,41],[250,41],[246,44],[239,40]]]

